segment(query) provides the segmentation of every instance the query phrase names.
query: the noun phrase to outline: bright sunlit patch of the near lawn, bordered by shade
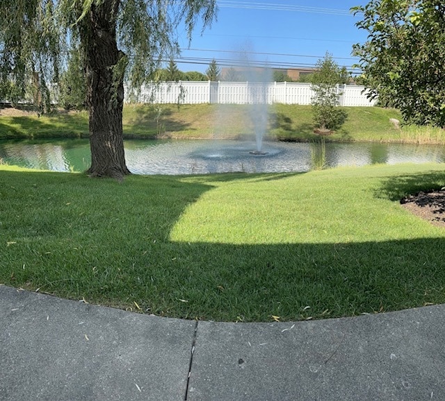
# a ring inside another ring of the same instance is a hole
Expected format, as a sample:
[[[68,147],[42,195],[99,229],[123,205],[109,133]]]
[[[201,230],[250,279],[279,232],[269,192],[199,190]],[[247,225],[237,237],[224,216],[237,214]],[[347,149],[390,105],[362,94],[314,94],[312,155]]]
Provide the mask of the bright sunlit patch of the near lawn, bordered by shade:
[[[407,219],[398,203],[379,196],[376,187],[382,178],[375,177],[376,171],[338,168],[280,179],[255,176],[230,185],[206,180],[215,189],[187,207],[171,238],[223,244],[346,244],[428,236],[428,224]]]

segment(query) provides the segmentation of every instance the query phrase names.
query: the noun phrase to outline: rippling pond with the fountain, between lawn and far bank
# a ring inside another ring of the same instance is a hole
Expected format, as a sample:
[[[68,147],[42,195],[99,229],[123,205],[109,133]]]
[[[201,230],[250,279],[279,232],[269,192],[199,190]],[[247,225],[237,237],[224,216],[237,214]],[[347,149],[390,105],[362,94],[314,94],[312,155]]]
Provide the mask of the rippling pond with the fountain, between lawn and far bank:
[[[192,174],[245,171],[301,172],[321,167],[404,162],[445,162],[444,146],[265,142],[221,140],[125,141],[127,166],[136,174]],[[88,139],[0,141],[0,163],[52,171],[85,171]]]

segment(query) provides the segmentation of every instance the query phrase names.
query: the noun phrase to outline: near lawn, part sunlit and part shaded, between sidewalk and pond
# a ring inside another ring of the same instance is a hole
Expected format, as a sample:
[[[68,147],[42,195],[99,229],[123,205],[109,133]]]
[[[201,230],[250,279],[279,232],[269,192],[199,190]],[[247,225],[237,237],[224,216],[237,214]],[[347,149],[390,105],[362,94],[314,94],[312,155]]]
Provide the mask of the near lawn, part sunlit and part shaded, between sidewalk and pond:
[[[445,230],[398,200],[442,164],[129,176],[0,171],[0,282],[215,321],[445,302]]]

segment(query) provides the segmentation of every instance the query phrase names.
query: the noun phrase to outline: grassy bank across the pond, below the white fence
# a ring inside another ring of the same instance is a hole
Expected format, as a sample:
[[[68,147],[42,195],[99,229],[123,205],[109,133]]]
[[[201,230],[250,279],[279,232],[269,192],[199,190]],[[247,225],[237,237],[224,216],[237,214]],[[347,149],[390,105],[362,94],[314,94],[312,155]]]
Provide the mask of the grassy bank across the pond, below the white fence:
[[[406,142],[445,144],[439,128],[404,126],[395,128],[390,118],[401,120],[397,110],[345,108],[348,120],[327,140],[341,142]],[[241,138],[252,132],[248,105],[126,105],[124,135],[127,138]],[[311,141],[313,133],[310,105],[270,106],[268,136],[285,141]],[[0,139],[88,137],[86,112],[60,112],[53,117],[3,116]]]

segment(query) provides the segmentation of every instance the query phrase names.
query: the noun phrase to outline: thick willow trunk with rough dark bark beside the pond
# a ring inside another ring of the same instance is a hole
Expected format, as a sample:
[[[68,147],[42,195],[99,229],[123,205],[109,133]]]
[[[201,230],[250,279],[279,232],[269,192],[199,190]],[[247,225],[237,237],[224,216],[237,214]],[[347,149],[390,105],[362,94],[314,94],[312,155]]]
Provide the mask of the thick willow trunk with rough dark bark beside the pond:
[[[116,15],[120,0],[91,6],[81,39],[86,51],[87,103],[90,117],[93,177],[122,179],[130,174],[125,164],[122,137],[124,70],[127,58],[116,43]]]

